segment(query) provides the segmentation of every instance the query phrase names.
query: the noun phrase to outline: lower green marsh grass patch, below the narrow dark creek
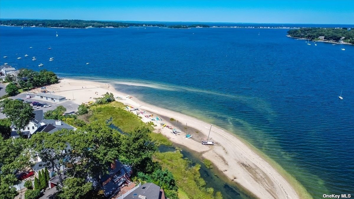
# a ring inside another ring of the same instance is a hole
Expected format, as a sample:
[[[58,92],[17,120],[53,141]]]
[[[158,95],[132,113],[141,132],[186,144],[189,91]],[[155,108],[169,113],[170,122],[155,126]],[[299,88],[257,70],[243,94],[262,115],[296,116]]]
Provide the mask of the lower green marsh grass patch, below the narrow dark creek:
[[[200,177],[200,165],[189,166],[189,160],[183,159],[181,152],[155,152],[154,160],[158,161],[163,169],[168,169],[175,177],[178,186],[178,195],[181,198],[213,199],[213,189],[205,187],[205,181]]]

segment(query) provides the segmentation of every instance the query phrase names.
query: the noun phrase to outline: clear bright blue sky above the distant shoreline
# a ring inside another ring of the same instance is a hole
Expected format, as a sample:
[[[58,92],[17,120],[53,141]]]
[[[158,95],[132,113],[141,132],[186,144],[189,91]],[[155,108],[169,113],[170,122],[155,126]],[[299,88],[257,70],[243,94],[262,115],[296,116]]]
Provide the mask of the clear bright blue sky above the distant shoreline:
[[[0,0],[0,18],[22,19],[354,24],[353,10],[354,0]]]

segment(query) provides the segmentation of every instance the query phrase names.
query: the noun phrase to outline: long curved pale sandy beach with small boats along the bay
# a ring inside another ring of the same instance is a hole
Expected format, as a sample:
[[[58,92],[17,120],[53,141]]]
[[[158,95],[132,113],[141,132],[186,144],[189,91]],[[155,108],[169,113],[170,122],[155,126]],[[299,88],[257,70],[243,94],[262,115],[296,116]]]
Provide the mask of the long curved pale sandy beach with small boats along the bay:
[[[251,150],[244,142],[217,126],[212,126],[210,136],[216,142],[215,146],[205,146],[200,140],[207,138],[210,125],[201,120],[190,116],[173,112],[171,110],[159,108],[134,98],[126,98],[128,94],[116,91],[111,85],[81,81],[73,79],[63,79],[61,83],[51,85],[55,91],[55,95],[65,96],[67,100],[81,104],[94,101],[93,98],[101,97],[106,92],[112,92],[115,97],[123,97],[125,100],[118,100],[124,104],[145,111],[146,114],[154,114],[161,116],[170,126],[175,126],[175,121],[169,120],[174,118],[178,120],[180,125],[188,123],[188,133],[193,135],[192,139],[185,139],[184,133],[181,135],[173,135],[168,128],[162,128],[160,125],[155,127],[155,132],[160,132],[168,137],[172,142],[183,144],[184,146],[199,152],[202,157],[212,161],[212,163],[221,170],[230,180],[238,183],[258,198],[279,198],[294,199],[300,198],[290,183],[280,175],[267,161]],[[166,121],[167,119],[167,121]],[[144,122],[151,121],[149,118],[142,117]],[[178,126],[180,127],[180,126]],[[193,129],[190,130],[190,129]],[[185,131],[180,127],[181,131]],[[198,131],[199,133],[195,133]]]

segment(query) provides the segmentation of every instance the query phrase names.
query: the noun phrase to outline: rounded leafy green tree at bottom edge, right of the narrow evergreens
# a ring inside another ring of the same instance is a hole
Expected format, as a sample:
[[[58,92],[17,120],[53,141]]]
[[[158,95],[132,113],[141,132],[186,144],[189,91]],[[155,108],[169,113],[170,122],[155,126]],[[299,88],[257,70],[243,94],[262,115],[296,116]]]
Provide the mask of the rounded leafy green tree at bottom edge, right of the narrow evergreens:
[[[89,198],[93,187],[92,183],[86,182],[83,178],[67,178],[63,182],[61,192],[57,194],[59,199],[83,199]]]

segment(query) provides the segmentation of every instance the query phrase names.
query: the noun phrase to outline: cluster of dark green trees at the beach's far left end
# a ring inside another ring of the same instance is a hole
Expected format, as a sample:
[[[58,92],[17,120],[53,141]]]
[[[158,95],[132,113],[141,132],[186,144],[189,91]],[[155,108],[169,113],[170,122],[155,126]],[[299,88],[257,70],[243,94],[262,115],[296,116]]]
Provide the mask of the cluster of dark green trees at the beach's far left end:
[[[14,96],[18,93],[18,89],[32,89],[48,84],[56,84],[59,82],[59,78],[52,71],[41,70],[37,72],[23,68],[18,71],[17,76],[6,75],[5,82],[9,83],[5,89],[6,93]]]

